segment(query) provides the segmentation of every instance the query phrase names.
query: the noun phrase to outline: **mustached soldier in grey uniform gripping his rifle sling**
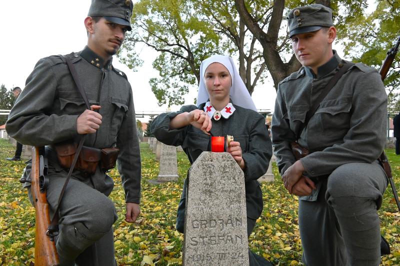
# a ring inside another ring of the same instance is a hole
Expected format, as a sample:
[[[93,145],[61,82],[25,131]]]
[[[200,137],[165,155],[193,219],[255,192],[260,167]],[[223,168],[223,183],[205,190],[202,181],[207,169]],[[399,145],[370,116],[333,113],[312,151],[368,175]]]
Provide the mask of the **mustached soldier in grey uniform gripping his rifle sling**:
[[[86,134],[85,146],[119,148],[125,220],[132,223],[140,213],[140,153],[132,89],[125,74],[112,66],[112,55],[131,29],[132,7],[130,0],[92,0],[84,20],[87,46],[65,55],[77,71],[91,110],[85,109],[65,58],[49,56],[37,62],[10,112],[9,135],[25,145],[46,146],[51,217],[67,176],[54,147],[80,134]],[[28,179],[29,172],[30,164],[25,171]],[[112,224],[117,215],[107,197],[112,188],[112,179],[99,166],[91,175],[73,171],[59,207],[60,265],[115,265]]]

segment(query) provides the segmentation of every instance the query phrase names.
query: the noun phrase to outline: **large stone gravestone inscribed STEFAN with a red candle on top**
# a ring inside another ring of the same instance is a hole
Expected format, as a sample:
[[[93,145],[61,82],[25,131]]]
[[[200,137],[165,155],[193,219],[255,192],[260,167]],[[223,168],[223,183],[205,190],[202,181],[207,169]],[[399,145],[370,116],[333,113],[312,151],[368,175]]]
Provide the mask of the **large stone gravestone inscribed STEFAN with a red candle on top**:
[[[188,181],[183,265],[248,266],[243,171],[228,153],[203,152]]]

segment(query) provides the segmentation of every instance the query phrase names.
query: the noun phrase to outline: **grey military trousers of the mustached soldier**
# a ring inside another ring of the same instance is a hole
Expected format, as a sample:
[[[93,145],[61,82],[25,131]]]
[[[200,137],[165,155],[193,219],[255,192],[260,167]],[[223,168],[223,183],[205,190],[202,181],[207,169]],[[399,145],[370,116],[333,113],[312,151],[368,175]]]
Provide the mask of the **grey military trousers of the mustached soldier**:
[[[30,172],[28,166],[24,174]],[[46,193],[52,218],[65,177],[51,172],[48,180]],[[117,215],[106,195],[93,188],[90,178],[69,180],[59,208],[59,235],[55,240],[60,266],[115,265],[112,224]]]

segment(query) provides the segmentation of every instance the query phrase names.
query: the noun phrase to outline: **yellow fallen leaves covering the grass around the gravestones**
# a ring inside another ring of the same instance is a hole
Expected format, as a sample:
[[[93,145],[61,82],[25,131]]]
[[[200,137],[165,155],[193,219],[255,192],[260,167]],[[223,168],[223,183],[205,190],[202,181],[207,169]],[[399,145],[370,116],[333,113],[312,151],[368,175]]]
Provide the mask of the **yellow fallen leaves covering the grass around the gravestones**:
[[[124,217],[124,194],[119,175],[110,172],[115,187],[110,197],[118,220],[114,224],[115,257],[118,265],[181,265],[183,235],[175,230],[175,214],[181,187],[189,168],[183,152],[178,152],[179,181],[150,185],[158,162],[147,143],[140,144],[142,160],[142,196],[139,224],[128,224]],[[34,254],[34,209],[18,182],[24,163],[6,161],[14,148],[0,140],[0,265],[28,265]],[[394,180],[400,188],[400,156],[386,151]],[[250,248],[274,265],[302,265],[297,225],[297,199],[284,190],[273,165],[275,182],[262,184],[264,210],[249,239]],[[400,214],[388,188],[379,210],[381,233],[391,246],[391,255],[382,257],[382,265],[400,265]]]

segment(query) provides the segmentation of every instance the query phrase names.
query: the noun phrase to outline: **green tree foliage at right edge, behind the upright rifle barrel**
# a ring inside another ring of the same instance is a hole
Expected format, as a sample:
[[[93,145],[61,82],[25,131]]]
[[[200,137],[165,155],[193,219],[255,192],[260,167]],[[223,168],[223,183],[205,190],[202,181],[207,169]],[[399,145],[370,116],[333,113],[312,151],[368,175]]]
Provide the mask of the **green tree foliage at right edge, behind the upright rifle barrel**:
[[[400,0],[379,0],[373,12],[354,14],[354,19],[341,29],[345,54],[354,61],[379,69],[386,52],[400,36]],[[389,111],[400,111],[400,52],[397,52],[384,84]]]

